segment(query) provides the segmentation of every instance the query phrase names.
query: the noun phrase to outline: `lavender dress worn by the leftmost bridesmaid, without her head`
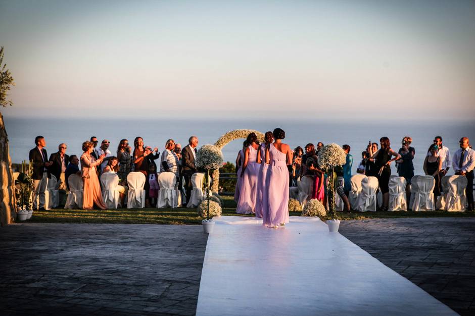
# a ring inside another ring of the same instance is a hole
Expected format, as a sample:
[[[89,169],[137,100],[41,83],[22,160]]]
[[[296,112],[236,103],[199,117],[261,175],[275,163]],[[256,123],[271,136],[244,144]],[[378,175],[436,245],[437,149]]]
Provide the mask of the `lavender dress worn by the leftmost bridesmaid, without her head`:
[[[248,148],[248,165],[242,177],[241,192],[236,207],[237,214],[254,213],[256,207],[257,174],[259,173],[259,164],[257,163],[257,150],[251,145]]]

